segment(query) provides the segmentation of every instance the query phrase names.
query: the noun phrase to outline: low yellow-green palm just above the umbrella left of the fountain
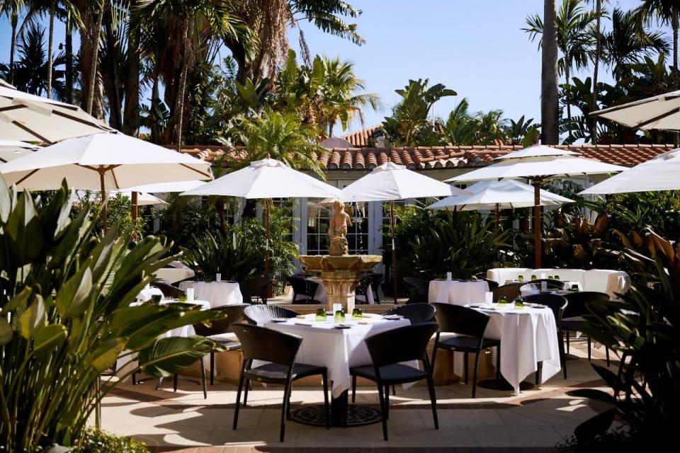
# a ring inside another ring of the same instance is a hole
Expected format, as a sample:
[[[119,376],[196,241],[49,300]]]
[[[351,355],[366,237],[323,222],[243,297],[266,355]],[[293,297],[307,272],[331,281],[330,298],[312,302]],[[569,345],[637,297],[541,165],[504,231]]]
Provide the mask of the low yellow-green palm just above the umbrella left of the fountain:
[[[314,125],[300,124],[295,113],[279,113],[269,108],[248,119],[242,117],[236,138],[247,149],[247,159],[236,166],[246,166],[251,161],[278,159],[291,168],[310,170],[324,178],[317,154],[327,151],[314,144],[319,130]]]

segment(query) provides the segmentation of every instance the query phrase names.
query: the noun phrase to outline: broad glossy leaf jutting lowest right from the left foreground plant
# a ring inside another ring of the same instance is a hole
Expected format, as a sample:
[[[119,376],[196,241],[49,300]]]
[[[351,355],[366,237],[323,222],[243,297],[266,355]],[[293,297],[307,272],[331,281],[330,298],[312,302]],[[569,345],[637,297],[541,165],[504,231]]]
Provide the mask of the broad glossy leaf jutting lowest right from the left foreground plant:
[[[145,374],[166,377],[199,360],[212,350],[214,343],[207,338],[161,338],[154,345],[140,351],[137,359]]]

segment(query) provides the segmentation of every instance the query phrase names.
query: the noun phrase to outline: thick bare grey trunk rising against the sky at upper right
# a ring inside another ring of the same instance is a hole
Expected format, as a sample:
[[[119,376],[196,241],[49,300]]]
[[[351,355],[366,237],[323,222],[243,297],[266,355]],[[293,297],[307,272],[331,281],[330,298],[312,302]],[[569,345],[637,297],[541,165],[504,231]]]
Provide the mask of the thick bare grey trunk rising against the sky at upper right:
[[[543,0],[543,45],[541,46],[540,124],[543,144],[557,144],[559,94],[557,93],[557,29],[555,0]]]

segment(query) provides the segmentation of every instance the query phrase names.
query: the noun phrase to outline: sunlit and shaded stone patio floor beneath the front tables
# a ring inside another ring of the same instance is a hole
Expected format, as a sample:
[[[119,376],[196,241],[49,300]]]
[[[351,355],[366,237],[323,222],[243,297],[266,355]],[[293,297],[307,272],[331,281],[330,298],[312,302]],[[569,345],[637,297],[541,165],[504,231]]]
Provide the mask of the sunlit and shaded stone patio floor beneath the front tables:
[[[572,341],[572,353],[585,357],[584,343]],[[593,360],[604,364],[602,359],[604,351],[594,350]],[[612,367],[617,365],[612,362]],[[562,379],[560,373],[519,396],[477,387],[473,400],[470,385],[438,386],[439,430],[433,428],[424,386],[397,389],[397,396],[390,397],[387,442],[382,440],[380,424],[326,430],[289,421],[282,444],[278,428],[283,391],[276,387],[256,386],[250,392],[234,431],[236,387],[217,382],[208,386],[207,400],[192,382],[180,381],[176,393],[171,382],[159,390],[153,381],[121,384],[103,401],[102,428],[146,442],[155,452],[555,451],[558,442],[598,409],[566,392],[581,387],[605,389],[587,359],[570,360],[567,370],[569,379]],[[322,401],[320,389],[293,387],[293,410]],[[377,392],[368,386],[358,388],[357,402],[379,407]]]

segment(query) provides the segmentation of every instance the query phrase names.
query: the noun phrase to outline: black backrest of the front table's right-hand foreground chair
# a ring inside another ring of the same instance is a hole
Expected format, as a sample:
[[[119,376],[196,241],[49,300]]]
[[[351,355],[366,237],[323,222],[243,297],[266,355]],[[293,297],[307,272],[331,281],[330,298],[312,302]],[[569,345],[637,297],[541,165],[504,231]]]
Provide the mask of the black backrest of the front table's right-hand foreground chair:
[[[375,367],[393,363],[422,360],[437,323],[422,323],[376,333],[365,339]]]

